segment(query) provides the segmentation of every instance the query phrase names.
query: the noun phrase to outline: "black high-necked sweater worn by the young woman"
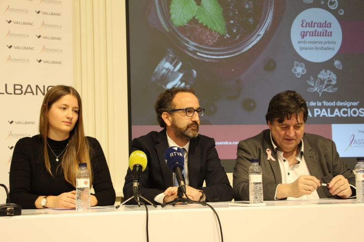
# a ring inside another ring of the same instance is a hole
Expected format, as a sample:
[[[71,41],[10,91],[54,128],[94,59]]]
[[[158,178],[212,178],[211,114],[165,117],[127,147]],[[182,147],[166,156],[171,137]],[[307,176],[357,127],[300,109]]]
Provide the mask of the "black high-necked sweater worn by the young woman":
[[[97,206],[114,205],[115,190],[101,145],[95,138],[87,137],[87,139],[92,149],[90,157],[93,171],[92,186]],[[66,147],[68,139],[56,141],[47,138],[47,142],[59,156]],[[47,146],[52,176],[45,167],[42,144],[42,137],[35,135],[19,139],[14,148],[10,166],[9,195],[11,202],[21,205],[23,209],[35,209],[34,203],[39,196],[58,196],[63,192],[75,190],[66,182],[59,166],[65,151],[58,157],[59,161],[56,161],[56,156]]]

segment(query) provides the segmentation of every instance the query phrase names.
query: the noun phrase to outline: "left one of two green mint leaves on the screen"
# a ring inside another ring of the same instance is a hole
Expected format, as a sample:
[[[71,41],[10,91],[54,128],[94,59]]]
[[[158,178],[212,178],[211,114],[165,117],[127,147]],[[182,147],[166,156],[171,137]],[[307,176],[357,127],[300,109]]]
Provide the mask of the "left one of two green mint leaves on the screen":
[[[170,7],[171,20],[175,27],[187,24],[197,12],[194,0],[172,0]]]

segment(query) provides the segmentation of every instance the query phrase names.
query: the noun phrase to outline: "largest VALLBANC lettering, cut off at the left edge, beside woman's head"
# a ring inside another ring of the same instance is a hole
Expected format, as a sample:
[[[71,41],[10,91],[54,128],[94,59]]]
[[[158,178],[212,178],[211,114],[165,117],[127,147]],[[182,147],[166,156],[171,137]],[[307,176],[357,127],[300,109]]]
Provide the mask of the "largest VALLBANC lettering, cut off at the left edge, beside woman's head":
[[[4,86],[0,86],[0,95],[45,95],[46,91],[54,86],[46,86],[45,85],[22,85],[22,84],[8,84],[5,83]],[[10,122],[9,122],[10,123]]]

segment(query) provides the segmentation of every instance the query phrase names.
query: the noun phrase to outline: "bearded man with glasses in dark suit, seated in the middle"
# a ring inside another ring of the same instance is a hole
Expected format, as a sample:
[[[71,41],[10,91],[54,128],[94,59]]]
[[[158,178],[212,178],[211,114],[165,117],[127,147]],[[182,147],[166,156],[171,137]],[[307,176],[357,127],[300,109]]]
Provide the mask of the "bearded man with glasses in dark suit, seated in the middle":
[[[193,89],[173,87],[160,94],[154,105],[161,132],[151,132],[133,139],[131,152],[141,150],[148,165],[140,177],[142,196],[150,201],[165,203],[177,197],[178,185],[174,173],[167,166],[164,152],[168,147],[184,148],[186,194],[195,201],[221,202],[233,199],[231,187],[221,166],[213,138],[198,134],[200,108]],[[206,187],[203,187],[204,181]],[[133,195],[133,176],[130,168],[125,176],[125,198]],[[136,204],[132,199],[129,204]]]

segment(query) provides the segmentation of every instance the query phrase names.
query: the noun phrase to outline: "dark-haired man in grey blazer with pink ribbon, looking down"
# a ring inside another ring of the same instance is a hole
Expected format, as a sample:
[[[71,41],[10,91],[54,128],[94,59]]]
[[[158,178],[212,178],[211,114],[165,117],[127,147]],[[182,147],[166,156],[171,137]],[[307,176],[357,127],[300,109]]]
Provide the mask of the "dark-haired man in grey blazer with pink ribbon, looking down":
[[[239,142],[233,173],[235,200],[249,200],[252,158],[259,158],[262,167],[264,200],[356,195],[355,176],[340,159],[335,143],[304,133],[307,116],[306,102],[297,92],[284,91],[272,98],[266,114],[269,130]]]

